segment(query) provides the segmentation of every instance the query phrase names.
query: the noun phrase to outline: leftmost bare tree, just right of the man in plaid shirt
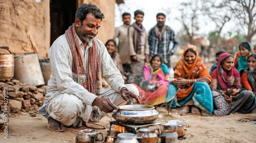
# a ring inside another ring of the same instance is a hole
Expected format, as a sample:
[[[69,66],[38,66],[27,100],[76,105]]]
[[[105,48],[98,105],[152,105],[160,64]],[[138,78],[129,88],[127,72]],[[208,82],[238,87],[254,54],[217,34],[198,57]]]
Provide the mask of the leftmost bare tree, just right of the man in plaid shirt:
[[[179,11],[181,12],[181,17],[177,18],[184,28],[186,35],[188,36],[188,41],[193,44],[193,38],[199,30],[198,16],[200,12],[200,1],[188,1],[180,4]]]

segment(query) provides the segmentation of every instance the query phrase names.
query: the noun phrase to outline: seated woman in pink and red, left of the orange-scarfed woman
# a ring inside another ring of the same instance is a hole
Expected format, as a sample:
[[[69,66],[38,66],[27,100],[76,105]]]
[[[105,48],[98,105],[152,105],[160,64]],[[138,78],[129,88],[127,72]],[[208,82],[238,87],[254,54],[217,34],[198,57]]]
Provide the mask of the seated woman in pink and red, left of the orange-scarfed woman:
[[[156,106],[165,102],[169,85],[165,79],[169,78],[169,74],[164,75],[161,68],[163,66],[166,65],[162,65],[160,56],[153,56],[150,64],[144,65],[141,79],[137,80],[138,83],[132,83],[139,89],[141,104]]]

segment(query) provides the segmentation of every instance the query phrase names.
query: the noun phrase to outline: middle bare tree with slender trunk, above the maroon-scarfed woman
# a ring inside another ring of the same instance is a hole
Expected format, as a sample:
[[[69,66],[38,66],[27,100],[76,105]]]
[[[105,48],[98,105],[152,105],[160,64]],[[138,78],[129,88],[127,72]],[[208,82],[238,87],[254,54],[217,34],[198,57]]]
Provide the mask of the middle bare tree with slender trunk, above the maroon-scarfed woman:
[[[220,1],[212,0],[202,0],[202,13],[207,15],[211,21],[215,22],[216,31],[217,31],[217,46],[216,50],[220,50],[220,34],[225,26],[225,24],[230,21],[232,13],[223,6],[223,3]],[[220,2],[220,3],[218,3]]]

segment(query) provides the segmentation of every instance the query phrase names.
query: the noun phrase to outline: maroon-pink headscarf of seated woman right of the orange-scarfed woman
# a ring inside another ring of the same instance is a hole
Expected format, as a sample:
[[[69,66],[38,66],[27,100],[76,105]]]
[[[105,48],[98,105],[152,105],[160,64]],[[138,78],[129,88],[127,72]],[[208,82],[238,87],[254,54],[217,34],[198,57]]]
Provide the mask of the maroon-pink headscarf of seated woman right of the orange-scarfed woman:
[[[221,66],[221,62],[225,60],[227,57],[233,56],[229,53],[222,53],[220,55],[218,66],[217,66],[217,80],[218,80],[218,88],[221,90],[227,90],[228,88],[236,87],[241,89],[240,85],[233,85],[236,78],[240,78],[238,70],[232,66],[231,70],[226,74]]]

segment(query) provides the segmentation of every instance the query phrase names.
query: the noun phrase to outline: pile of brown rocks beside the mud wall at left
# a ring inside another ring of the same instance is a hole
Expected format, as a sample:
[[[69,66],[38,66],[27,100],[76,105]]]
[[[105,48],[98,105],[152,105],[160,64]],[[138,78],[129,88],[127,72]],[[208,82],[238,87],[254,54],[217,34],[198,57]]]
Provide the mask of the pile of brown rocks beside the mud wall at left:
[[[4,99],[6,97],[6,99]],[[8,99],[9,112],[38,111],[46,102],[46,85],[36,87],[21,83],[16,79],[0,80],[0,106],[5,110]],[[4,104],[5,103],[5,104]]]

